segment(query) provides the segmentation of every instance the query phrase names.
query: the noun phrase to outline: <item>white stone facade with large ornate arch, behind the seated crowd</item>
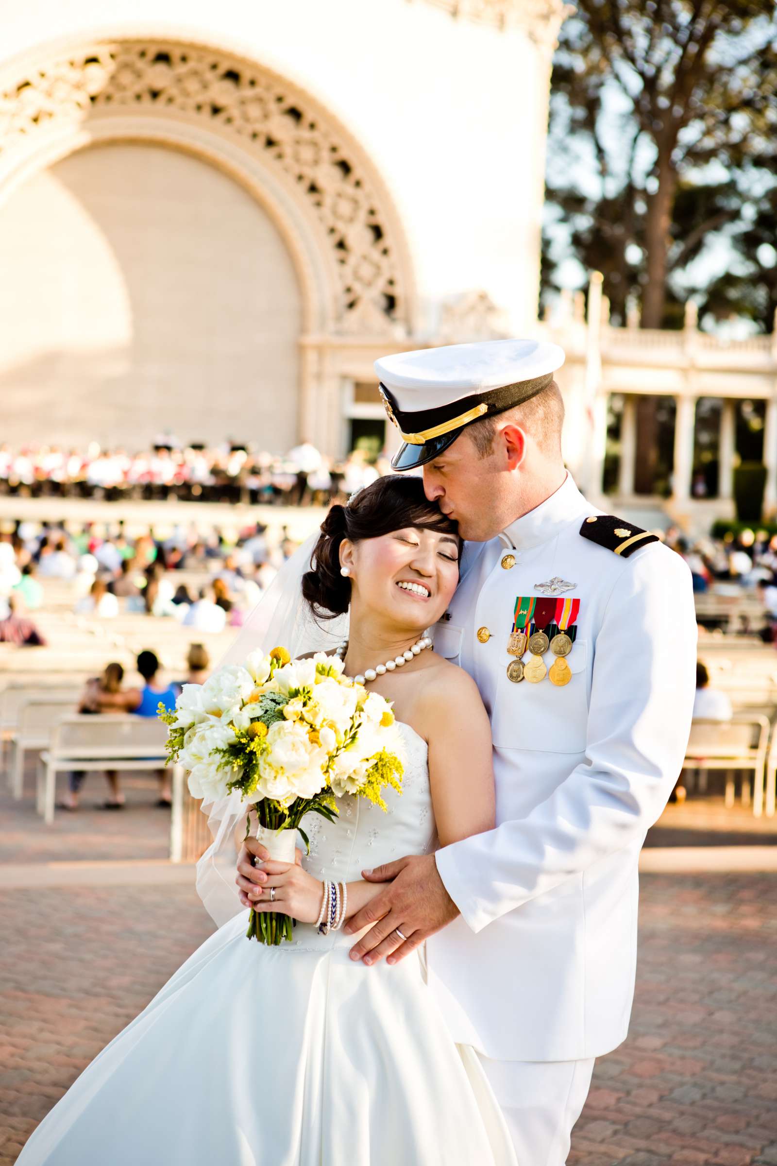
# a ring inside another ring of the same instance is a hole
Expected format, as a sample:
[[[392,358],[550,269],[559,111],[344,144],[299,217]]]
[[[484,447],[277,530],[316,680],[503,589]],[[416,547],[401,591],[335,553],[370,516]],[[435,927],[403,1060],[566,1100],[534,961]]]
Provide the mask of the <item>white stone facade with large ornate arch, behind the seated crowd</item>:
[[[0,50],[14,442],[382,422],[391,350],[536,318],[560,0],[30,0]],[[370,389],[368,386],[373,386]]]

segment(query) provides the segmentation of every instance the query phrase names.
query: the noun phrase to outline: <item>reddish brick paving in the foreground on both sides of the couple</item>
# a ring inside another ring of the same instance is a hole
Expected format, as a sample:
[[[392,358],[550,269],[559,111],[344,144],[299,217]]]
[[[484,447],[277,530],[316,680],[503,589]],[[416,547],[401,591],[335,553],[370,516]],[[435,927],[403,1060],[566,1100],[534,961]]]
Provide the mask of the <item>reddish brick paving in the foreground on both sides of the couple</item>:
[[[642,887],[631,1034],[596,1066],[570,1166],[777,1164],[777,874],[651,874]],[[35,934],[38,912],[47,930]],[[210,923],[179,886],[129,887],[118,908],[115,892],[91,887],[6,891],[0,918],[10,1166]]]

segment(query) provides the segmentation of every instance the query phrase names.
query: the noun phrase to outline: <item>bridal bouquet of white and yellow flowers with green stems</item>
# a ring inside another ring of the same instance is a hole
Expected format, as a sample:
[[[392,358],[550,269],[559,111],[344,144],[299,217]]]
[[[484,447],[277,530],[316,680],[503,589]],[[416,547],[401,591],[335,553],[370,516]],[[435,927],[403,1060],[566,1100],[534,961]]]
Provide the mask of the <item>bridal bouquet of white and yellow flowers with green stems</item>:
[[[239,789],[246,837],[281,862],[295,861],[305,814],[338,816],[342,794],[382,809],[384,786],[402,792],[398,735],[388,701],[342,675],[342,661],[317,653],[291,660],[283,647],[253,652],[243,665],[219,668],[204,684],[184,684],[168,724],[167,753],[189,771],[192,798],[212,802]],[[250,912],[247,935],[262,943],[291,939],[294,920]]]

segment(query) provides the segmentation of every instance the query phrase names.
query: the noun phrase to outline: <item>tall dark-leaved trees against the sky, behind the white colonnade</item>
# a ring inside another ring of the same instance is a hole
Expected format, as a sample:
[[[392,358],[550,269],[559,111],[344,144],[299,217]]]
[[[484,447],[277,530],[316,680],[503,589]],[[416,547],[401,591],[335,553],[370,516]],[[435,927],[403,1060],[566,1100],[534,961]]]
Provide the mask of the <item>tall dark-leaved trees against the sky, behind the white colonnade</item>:
[[[681,301],[712,282],[707,272],[699,285],[694,260],[730,237],[740,269],[721,272],[705,303],[769,326],[769,296],[754,298],[748,280],[757,268],[774,295],[768,248],[763,264],[750,252],[776,206],[774,0],[575,3],[553,63],[545,289],[564,233],[603,273],[615,318],[634,296],[644,328],[679,326]]]

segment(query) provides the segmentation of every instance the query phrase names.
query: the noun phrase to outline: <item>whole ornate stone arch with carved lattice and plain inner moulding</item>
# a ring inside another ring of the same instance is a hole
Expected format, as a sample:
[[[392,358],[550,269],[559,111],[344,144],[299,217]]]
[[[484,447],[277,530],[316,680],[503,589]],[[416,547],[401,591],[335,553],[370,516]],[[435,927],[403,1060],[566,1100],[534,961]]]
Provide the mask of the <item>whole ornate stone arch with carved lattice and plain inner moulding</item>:
[[[313,97],[229,50],[99,37],[9,66],[0,86],[0,198],[100,141],[161,141],[229,171],[274,216],[309,331],[408,335],[412,274],[398,216],[365,152]]]

